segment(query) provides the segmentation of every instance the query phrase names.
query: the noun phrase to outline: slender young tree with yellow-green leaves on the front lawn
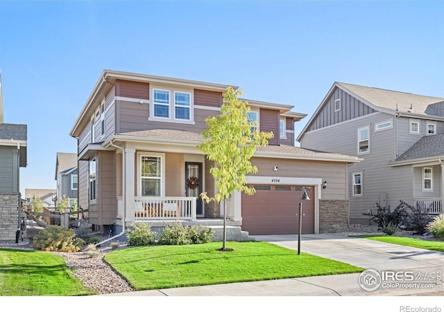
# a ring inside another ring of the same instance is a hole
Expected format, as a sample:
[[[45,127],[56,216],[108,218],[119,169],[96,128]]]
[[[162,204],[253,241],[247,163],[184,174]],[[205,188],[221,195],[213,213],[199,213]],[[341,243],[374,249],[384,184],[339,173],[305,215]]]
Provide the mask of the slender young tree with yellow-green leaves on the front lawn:
[[[257,173],[257,167],[250,163],[257,146],[266,146],[268,139],[273,138],[273,132],[259,132],[257,121],[248,121],[247,102],[239,100],[241,90],[228,87],[223,96],[224,103],[221,114],[206,119],[207,130],[203,132],[203,142],[198,145],[207,158],[214,161],[216,166],[210,168],[210,173],[217,180],[219,193],[210,198],[207,193],[200,194],[206,202],[223,200],[223,246],[226,248],[226,202],[234,191],[253,195],[255,189],[246,185],[246,174]]]

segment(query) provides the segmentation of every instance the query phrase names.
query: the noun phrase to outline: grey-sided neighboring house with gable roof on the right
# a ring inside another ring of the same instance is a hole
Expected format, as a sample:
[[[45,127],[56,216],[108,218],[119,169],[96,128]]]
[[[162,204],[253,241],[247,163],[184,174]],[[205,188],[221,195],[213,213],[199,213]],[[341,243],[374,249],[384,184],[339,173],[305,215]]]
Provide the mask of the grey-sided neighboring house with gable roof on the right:
[[[443,212],[444,98],[334,83],[298,141],[364,158],[349,168],[352,223],[400,200]]]

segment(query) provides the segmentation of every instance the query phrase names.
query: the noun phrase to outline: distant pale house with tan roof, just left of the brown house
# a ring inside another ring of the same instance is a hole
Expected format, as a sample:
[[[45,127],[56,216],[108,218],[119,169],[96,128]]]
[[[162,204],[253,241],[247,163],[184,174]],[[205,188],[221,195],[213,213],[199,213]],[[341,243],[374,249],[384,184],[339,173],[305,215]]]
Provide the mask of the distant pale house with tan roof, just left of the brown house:
[[[65,196],[69,198],[69,207],[77,203],[78,173],[76,153],[57,153],[56,175],[57,191],[56,205]]]

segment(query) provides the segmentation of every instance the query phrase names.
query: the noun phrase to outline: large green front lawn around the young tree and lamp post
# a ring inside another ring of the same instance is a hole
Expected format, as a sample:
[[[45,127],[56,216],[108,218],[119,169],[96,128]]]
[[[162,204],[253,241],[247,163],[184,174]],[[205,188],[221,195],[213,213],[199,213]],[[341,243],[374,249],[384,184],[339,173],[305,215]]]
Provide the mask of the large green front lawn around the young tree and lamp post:
[[[137,291],[362,272],[347,263],[265,242],[152,245],[110,252],[105,261]]]

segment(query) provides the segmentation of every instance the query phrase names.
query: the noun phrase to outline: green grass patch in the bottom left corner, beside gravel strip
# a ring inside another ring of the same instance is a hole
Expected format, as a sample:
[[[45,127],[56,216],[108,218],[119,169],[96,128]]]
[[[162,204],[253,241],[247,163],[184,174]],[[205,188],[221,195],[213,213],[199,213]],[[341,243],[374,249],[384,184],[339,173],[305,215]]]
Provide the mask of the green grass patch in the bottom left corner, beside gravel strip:
[[[0,249],[1,296],[94,295],[58,254]]]

